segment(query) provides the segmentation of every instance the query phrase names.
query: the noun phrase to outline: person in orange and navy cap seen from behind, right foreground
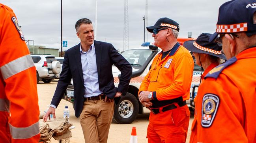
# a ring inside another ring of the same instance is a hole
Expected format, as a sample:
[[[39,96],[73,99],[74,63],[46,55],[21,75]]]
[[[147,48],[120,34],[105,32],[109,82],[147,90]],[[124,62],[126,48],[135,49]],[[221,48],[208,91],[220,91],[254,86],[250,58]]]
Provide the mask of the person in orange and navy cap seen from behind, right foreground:
[[[196,96],[191,143],[256,143],[256,0],[219,8],[216,33],[227,61],[205,76]]]

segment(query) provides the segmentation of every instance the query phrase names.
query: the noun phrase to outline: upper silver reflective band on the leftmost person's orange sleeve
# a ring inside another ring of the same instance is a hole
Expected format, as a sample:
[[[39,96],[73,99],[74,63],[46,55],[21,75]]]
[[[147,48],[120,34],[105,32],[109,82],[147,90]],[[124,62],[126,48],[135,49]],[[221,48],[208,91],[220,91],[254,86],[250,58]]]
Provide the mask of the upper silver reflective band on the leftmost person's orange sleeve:
[[[0,71],[2,72],[4,80],[6,80],[11,76],[34,66],[34,62],[31,56],[28,54],[22,56],[21,58],[17,58],[9,63],[6,63],[2,67],[0,67]]]

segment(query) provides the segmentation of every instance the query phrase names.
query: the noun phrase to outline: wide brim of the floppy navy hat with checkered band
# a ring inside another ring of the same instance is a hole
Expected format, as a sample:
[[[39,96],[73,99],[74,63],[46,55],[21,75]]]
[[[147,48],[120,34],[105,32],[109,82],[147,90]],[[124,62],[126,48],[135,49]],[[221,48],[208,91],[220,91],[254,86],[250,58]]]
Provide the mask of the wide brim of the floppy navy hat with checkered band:
[[[222,54],[213,54],[213,53],[211,53],[211,52],[207,52],[207,51],[203,51],[203,50],[198,49],[197,47],[195,47],[195,46],[193,45],[194,41],[195,41],[195,40],[189,40],[189,41],[184,42],[184,43],[183,43],[183,47],[185,47],[186,49],[188,49],[188,50],[191,51],[191,52],[209,54],[209,55],[216,56],[216,57],[218,57],[218,58],[227,60],[226,56],[225,56],[223,53],[222,53]]]

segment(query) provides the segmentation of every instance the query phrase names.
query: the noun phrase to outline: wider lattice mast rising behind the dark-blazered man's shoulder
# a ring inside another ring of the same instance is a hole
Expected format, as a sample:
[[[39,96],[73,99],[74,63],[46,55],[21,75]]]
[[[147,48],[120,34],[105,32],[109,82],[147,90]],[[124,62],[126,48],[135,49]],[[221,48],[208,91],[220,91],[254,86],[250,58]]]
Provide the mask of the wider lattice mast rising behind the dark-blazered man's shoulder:
[[[123,51],[129,49],[128,0],[124,0]]]

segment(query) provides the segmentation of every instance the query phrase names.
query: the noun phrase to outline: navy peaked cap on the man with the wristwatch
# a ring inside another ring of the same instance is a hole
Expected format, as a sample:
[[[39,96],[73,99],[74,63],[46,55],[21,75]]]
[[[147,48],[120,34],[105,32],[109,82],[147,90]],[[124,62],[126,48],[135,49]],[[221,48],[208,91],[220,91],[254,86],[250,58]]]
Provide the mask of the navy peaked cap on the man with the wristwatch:
[[[171,20],[167,17],[160,18],[159,20],[157,20],[154,26],[147,27],[147,30],[148,32],[153,33],[153,29],[159,29],[161,27],[170,27],[179,31],[179,24],[176,21]]]

